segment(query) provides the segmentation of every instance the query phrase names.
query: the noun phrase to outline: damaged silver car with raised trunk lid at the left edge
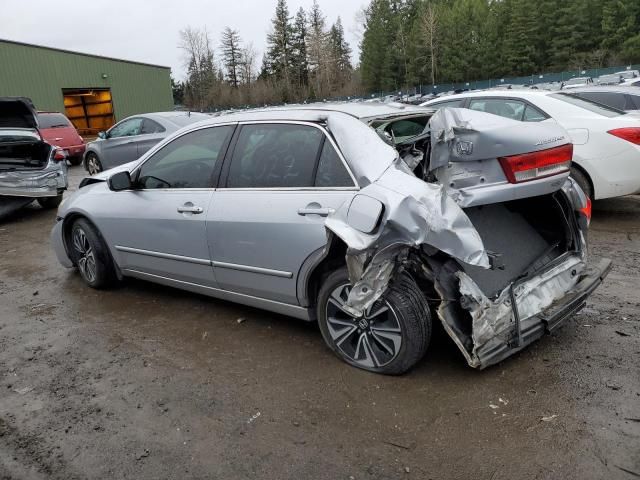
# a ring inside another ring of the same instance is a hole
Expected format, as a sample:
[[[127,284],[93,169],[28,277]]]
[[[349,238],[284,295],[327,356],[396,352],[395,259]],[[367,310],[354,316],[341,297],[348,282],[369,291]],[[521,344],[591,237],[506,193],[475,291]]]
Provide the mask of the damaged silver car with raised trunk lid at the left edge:
[[[31,100],[0,97],[0,218],[34,200],[56,208],[66,188],[66,154],[42,139]]]

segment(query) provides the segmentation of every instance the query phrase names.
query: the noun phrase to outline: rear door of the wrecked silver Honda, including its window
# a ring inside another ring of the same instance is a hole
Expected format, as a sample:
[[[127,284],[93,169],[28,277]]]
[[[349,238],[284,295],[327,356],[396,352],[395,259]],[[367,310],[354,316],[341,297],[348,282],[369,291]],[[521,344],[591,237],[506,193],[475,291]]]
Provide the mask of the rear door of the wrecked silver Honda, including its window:
[[[296,305],[300,267],[327,241],[327,215],[357,190],[318,125],[252,123],[236,133],[209,210],[220,288]]]

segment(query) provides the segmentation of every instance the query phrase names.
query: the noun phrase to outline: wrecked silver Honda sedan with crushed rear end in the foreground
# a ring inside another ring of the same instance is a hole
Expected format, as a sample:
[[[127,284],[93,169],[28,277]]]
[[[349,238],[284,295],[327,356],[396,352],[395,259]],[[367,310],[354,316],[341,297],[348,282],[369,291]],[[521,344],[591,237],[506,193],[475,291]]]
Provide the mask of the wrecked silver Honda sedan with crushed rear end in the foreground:
[[[52,243],[91,287],[136,277],[318,321],[351,365],[414,366],[440,322],[484,368],[557,328],[610,262],[555,124],[462,109],[227,114],[87,178]]]

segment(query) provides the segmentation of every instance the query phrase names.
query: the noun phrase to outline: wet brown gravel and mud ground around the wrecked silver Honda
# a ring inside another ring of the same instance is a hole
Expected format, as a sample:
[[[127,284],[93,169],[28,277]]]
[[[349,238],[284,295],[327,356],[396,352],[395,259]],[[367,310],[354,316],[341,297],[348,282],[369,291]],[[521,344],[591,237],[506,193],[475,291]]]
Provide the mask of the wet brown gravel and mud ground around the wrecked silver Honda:
[[[614,267],[562,329],[482,372],[436,332],[402,377],[279,315],[91,290],[49,248],[54,218],[0,223],[2,479],[640,476],[640,197],[595,204],[591,254]]]

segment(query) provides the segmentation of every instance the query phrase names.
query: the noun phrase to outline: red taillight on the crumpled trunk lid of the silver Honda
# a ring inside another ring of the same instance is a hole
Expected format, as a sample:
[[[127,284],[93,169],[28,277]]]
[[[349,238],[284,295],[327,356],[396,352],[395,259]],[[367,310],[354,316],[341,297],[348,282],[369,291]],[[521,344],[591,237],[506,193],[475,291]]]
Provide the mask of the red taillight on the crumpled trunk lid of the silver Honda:
[[[538,152],[500,157],[498,161],[509,183],[521,183],[566,173],[572,158],[573,145],[569,143]]]

